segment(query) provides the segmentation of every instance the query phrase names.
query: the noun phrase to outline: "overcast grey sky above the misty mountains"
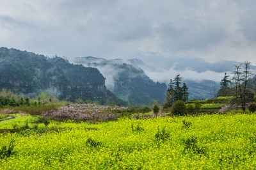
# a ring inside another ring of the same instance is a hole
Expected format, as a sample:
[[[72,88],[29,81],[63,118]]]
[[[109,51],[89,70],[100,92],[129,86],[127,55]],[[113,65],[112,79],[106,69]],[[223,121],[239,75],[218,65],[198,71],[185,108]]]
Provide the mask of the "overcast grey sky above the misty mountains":
[[[256,65],[255,0],[0,0],[0,46]]]

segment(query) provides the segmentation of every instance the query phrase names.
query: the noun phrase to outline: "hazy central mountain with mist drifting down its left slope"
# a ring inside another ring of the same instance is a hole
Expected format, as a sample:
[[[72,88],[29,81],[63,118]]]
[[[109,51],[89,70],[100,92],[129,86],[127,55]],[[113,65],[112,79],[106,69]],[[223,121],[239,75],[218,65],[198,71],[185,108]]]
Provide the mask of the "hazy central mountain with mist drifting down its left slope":
[[[107,88],[132,105],[149,105],[153,100],[163,104],[166,84],[152,81],[132,62],[138,60],[83,57],[74,61],[77,64],[98,68],[106,77]]]

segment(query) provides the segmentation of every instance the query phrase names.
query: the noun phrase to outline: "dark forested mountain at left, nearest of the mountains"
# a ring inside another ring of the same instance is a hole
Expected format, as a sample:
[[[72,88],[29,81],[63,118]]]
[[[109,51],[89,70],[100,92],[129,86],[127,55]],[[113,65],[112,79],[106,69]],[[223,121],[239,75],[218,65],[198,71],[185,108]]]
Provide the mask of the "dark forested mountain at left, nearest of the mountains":
[[[62,58],[0,48],[0,88],[35,97],[42,91],[61,100],[125,104],[105,86],[96,68],[73,65]]]

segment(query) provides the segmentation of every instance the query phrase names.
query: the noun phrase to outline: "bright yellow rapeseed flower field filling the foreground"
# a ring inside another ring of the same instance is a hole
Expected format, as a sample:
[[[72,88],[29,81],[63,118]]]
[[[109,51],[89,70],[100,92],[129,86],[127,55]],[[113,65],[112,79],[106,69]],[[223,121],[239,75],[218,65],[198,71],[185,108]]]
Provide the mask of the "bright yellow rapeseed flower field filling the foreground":
[[[253,169],[255,125],[255,114],[51,121],[60,130],[0,134],[2,151],[13,146],[0,169]]]

